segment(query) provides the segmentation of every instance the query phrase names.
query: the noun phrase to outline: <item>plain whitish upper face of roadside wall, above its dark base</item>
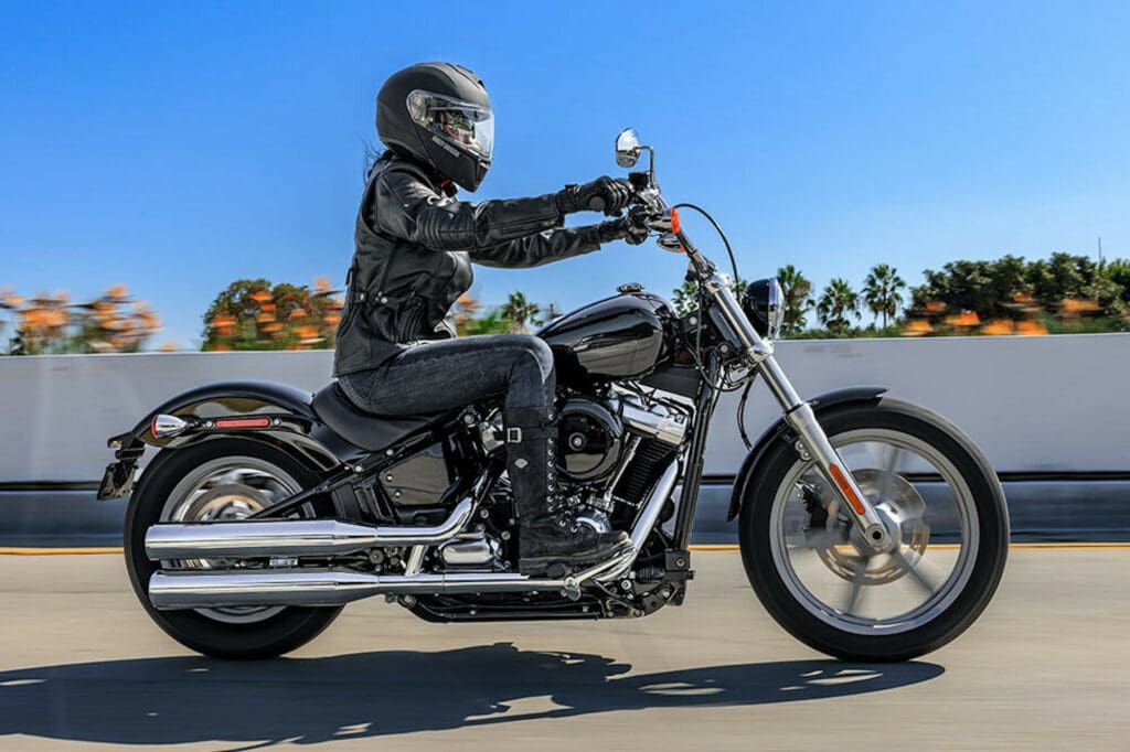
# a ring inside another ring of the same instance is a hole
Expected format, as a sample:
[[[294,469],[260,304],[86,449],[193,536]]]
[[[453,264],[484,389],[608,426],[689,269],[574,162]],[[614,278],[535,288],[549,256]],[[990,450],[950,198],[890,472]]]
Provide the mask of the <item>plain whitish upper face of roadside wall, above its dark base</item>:
[[[1130,334],[781,342],[806,396],[886,385],[960,426],[998,471],[1130,470]],[[268,378],[314,391],[329,352],[147,353],[0,358],[0,482],[89,481],[105,439],[166,397],[209,381]],[[737,395],[715,414],[706,472],[732,473],[745,449]],[[751,436],[777,417],[764,386]]]

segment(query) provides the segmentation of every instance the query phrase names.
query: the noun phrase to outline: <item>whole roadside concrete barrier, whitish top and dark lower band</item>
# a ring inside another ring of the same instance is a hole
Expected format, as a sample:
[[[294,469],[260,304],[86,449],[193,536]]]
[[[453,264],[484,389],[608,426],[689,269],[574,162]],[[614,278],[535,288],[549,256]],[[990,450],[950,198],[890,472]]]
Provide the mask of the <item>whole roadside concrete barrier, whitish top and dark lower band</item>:
[[[1122,540],[1130,530],[1130,334],[802,340],[777,353],[806,396],[881,384],[957,423],[1007,481],[1014,521],[1032,535]],[[0,358],[0,540],[118,535],[121,505],[96,505],[90,490],[111,456],[106,437],[208,381],[314,391],[330,361],[324,351]],[[713,483],[699,517],[712,540],[732,535],[706,521],[745,456],[737,399],[723,397],[706,452]],[[779,414],[755,387],[750,435]]]

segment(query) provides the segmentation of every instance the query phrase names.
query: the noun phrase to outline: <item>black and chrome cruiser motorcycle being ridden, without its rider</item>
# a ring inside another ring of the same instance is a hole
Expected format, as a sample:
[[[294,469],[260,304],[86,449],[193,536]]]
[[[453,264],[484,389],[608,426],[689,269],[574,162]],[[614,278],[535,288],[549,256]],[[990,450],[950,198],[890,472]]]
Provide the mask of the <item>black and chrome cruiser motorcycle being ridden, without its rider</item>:
[[[654,150],[632,129],[617,138],[621,167],[644,154],[647,169],[628,176],[635,210],[660,247],[685,254],[697,307],[679,315],[625,285],[537,332],[557,368],[566,514],[627,532],[629,548],[541,577],[518,571],[497,397],[382,418],[333,384],[310,394],[215,383],[110,439],[98,497],[131,495],[125,562],[153,620],[193,650],[260,658],[375,595],[433,622],[633,619],[681,605],[711,417],[720,395],[744,390],[741,425],[760,377],[782,417],[756,443],[742,425],[749,452],[729,518],[768,613],[851,661],[909,659],[968,628],[1008,551],[1005,497],[984,456],[880,386],[801,399],[774,357],[780,285],[736,294],[680,224],[681,210],[702,210],[668,206]],[[146,447],[158,452],[134,488]]]

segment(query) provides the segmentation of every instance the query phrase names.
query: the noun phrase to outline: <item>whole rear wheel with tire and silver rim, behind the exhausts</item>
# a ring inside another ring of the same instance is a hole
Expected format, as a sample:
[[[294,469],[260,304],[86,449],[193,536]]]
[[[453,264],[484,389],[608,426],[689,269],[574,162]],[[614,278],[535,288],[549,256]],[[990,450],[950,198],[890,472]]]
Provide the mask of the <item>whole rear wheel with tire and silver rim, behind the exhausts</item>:
[[[238,606],[158,611],[149,577],[158,569],[209,569],[209,560],[150,561],[145,535],[158,522],[242,519],[316,482],[289,455],[250,439],[203,441],[157,455],[125,514],[125,565],[133,591],[157,626],[198,653],[218,658],[268,658],[314,639],[340,607]],[[305,516],[315,510],[306,507]]]

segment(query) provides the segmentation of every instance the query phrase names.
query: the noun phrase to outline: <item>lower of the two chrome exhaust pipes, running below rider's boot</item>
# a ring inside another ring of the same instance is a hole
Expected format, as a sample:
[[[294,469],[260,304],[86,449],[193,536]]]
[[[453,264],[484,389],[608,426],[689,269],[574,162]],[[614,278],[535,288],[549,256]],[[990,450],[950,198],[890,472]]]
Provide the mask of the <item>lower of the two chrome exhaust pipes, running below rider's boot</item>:
[[[384,594],[560,593],[579,596],[585,580],[619,568],[635,552],[594,565],[564,579],[512,572],[374,575],[351,569],[228,569],[157,571],[149,602],[158,610],[240,605],[336,606]]]

